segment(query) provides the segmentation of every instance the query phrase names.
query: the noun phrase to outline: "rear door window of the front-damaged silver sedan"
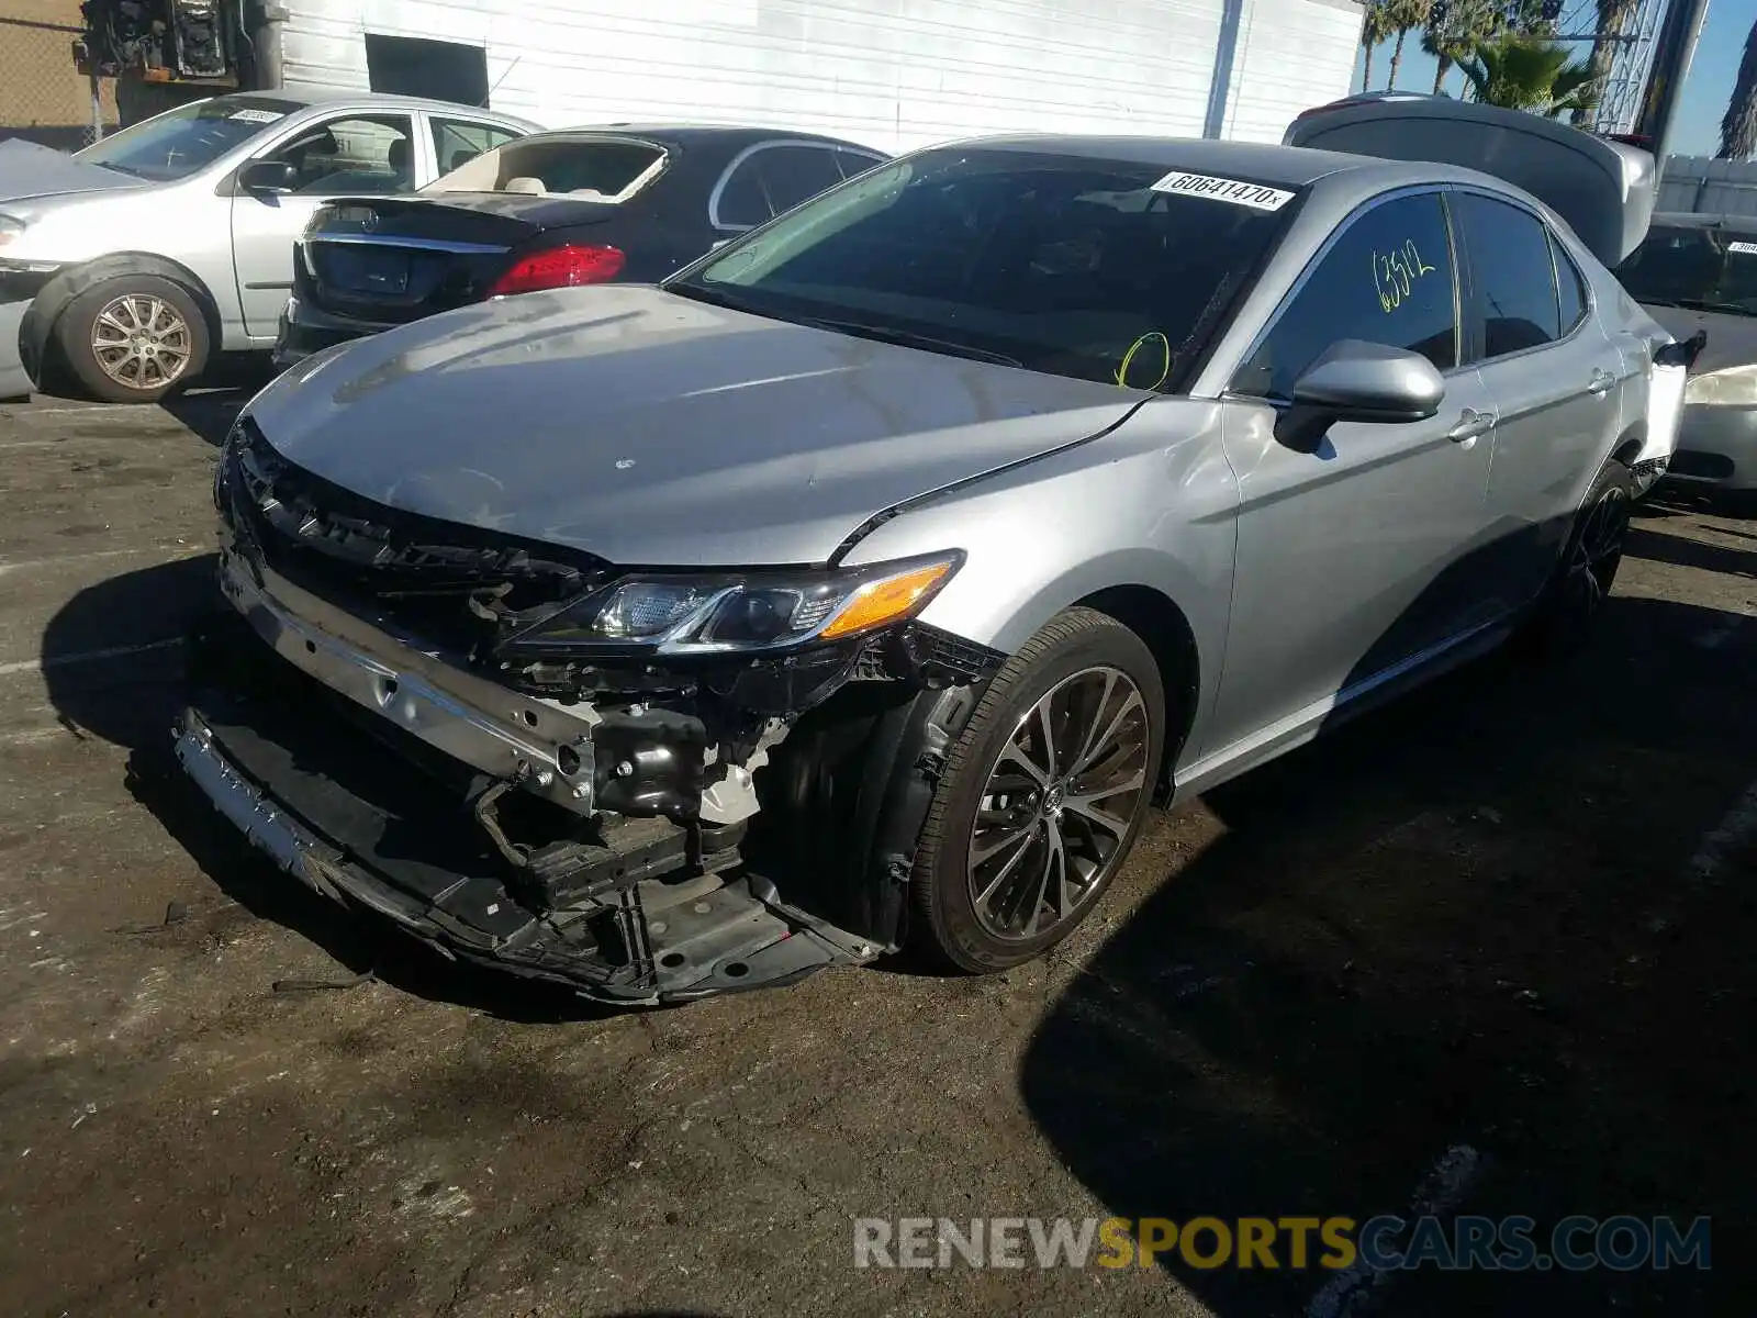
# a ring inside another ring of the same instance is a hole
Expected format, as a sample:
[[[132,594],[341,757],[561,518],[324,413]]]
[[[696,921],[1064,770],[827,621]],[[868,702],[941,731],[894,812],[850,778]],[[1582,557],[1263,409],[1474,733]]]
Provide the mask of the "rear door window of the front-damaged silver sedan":
[[[1550,234],[1537,216],[1476,193],[1455,204],[1483,306],[1483,360],[1562,337]]]

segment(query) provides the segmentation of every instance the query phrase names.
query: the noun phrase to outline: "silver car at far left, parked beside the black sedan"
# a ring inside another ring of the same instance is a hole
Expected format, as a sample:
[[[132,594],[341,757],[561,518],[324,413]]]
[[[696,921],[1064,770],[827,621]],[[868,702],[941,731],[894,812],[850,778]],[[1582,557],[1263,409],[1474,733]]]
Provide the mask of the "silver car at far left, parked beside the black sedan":
[[[214,353],[267,351],[293,239],[325,197],[415,192],[536,130],[443,100],[264,91],[72,156],[0,142],[0,397],[61,371],[104,401],[153,402]]]

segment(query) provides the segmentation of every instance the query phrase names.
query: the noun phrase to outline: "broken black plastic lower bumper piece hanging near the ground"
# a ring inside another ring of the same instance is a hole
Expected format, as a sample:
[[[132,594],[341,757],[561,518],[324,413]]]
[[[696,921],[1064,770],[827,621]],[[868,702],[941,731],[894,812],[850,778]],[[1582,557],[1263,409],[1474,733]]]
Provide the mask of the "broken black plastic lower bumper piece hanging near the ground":
[[[636,836],[613,854],[596,849],[610,859],[585,882],[557,882],[543,852],[510,866],[459,798],[411,764],[409,747],[357,726],[344,701],[300,673],[271,671],[265,684],[234,675],[197,689],[176,726],[183,770],[299,882],[453,960],[597,1002],[657,1005],[785,984],[882,951],[787,905],[736,851],[719,872],[682,863],[669,821],[629,821]]]

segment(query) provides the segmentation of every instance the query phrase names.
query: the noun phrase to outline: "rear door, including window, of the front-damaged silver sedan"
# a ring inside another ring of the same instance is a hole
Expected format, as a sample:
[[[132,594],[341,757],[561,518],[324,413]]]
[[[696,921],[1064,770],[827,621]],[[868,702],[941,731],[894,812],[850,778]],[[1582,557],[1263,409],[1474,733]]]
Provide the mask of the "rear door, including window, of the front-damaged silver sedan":
[[[1453,193],[1469,253],[1467,343],[1495,401],[1488,482],[1497,608],[1543,589],[1574,511],[1615,446],[1629,367],[1548,225],[1511,200]]]

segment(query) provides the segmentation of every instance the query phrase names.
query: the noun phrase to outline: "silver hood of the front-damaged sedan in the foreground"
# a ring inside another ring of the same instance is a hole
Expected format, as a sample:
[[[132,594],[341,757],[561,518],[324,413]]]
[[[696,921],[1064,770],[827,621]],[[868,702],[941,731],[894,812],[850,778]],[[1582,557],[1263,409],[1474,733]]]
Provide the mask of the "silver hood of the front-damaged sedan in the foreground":
[[[828,561],[898,503],[1153,397],[641,285],[522,293],[327,350],[251,404],[300,467],[618,564]]]

